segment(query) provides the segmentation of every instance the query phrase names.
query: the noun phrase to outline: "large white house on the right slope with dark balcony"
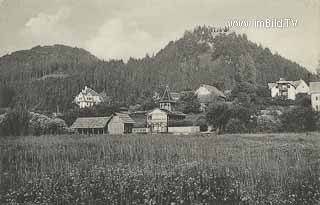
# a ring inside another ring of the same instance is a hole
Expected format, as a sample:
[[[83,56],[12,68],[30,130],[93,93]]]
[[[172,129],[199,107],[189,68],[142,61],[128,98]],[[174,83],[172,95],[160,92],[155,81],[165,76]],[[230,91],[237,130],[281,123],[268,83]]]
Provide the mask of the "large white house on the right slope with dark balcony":
[[[299,93],[309,93],[309,86],[304,80],[288,81],[280,78],[275,83],[268,83],[271,90],[271,97],[283,97],[289,100],[295,100]]]

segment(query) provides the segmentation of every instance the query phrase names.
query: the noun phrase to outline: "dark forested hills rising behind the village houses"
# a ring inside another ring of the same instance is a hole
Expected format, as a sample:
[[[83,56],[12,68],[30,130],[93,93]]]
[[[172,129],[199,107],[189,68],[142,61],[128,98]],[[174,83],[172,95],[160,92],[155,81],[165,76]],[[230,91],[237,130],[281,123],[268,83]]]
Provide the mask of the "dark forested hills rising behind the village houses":
[[[279,77],[308,81],[302,66],[272,54],[245,35],[197,27],[169,42],[154,56],[102,61],[80,48],[34,47],[0,58],[0,107],[23,103],[31,109],[62,111],[88,85],[105,91],[116,103],[141,103],[165,85],[195,89],[201,83],[232,89],[249,81],[266,86]]]

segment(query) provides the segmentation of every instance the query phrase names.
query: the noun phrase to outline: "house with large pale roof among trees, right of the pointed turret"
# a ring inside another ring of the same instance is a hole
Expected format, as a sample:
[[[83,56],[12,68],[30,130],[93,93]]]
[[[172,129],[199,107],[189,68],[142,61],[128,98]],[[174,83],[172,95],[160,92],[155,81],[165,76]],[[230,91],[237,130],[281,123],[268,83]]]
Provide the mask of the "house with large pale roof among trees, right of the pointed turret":
[[[207,107],[217,101],[225,101],[226,96],[218,88],[212,85],[201,84],[195,91],[200,102],[200,110],[205,111]]]

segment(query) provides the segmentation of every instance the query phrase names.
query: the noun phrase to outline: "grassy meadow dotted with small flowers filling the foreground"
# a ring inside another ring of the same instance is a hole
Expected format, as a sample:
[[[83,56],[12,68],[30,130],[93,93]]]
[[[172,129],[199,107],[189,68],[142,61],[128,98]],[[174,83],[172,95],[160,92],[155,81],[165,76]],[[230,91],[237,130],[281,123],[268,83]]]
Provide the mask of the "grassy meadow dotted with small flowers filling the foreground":
[[[320,134],[0,139],[0,204],[319,204]]]

